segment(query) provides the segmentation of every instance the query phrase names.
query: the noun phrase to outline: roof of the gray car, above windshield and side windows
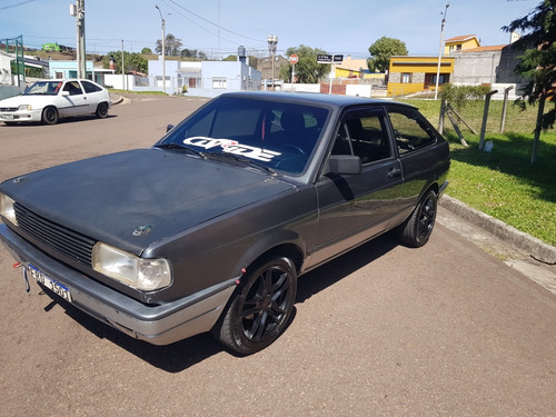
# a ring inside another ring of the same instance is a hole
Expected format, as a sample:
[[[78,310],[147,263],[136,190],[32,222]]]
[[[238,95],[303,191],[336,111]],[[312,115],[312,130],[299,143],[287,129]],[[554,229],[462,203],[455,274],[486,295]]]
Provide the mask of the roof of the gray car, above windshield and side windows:
[[[316,92],[284,92],[284,91],[240,91],[240,92],[228,92],[222,96],[235,96],[252,99],[262,100],[275,100],[275,101],[287,101],[295,102],[299,105],[317,105],[317,106],[329,106],[329,107],[350,107],[350,106],[361,106],[361,105],[378,105],[384,106],[388,103],[396,103],[397,106],[404,106],[408,108],[415,108],[414,106],[391,101],[384,99],[370,99],[365,97],[355,96],[338,96],[338,95],[324,95]]]

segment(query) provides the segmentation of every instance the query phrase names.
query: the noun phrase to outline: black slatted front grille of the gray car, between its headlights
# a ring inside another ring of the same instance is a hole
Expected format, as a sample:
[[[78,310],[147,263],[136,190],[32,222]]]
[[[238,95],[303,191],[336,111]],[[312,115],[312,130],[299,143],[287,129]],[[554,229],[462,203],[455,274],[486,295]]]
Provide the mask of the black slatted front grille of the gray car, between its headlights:
[[[14,209],[18,225],[22,230],[71,260],[91,266],[96,240],[47,220],[19,203],[16,203]]]

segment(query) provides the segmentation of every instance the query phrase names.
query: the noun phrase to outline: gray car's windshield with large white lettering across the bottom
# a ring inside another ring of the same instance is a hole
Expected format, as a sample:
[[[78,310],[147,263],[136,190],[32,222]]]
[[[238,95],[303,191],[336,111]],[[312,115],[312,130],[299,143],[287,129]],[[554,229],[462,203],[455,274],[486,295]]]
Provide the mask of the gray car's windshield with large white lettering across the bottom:
[[[238,157],[236,160],[301,175],[324,131],[328,112],[316,106],[221,96],[157,145],[166,148],[179,145],[207,157],[229,153]]]

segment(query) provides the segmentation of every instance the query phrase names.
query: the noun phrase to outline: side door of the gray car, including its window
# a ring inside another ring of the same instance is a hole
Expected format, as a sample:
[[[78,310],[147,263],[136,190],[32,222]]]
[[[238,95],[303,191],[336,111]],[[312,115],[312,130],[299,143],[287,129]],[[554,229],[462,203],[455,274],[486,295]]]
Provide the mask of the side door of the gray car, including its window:
[[[317,265],[383,232],[399,215],[403,187],[387,117],[381,107],[346,112],[339,122],[331,155],[361,159],[361,172],[328,173],[316,183],[319,224]]]

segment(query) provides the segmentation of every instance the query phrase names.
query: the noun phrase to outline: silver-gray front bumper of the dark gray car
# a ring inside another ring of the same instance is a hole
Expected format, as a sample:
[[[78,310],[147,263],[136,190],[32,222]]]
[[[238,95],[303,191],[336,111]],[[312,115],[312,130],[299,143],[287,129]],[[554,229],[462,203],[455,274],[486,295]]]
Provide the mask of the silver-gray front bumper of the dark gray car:
[[[67,287],[76,307],[153,345],[169,345],[210,330],[236,287],[231,279],[176,301],[149,306],[44,255],[3,224],[0,241],[26,268],[31,264]]]

